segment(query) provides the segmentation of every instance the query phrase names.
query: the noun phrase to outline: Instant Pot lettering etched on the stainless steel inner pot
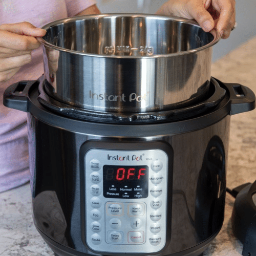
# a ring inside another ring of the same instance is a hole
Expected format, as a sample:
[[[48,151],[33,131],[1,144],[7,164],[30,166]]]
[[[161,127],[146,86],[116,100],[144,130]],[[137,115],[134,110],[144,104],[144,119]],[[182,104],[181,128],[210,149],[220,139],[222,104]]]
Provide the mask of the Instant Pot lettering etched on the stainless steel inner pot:
[[[136,93],[131,93],[129,96],[126,96],[124,93],[122,95],[109,95],[106,92],[102,94],[93,93],[91,90],[89,91],[90,99],[94,100],[105,100],[105,101],[119,101],[119,102],[132,102],[132,101],[146,101],[150,92],[146,92],[143,95],[137,95]]]

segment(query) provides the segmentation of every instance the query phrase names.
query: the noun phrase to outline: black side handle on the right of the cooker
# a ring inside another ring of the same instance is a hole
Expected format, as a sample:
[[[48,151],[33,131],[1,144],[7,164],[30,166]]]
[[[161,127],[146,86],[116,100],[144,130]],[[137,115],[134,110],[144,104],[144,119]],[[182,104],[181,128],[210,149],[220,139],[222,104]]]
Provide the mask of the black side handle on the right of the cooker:
[[[239,83],[224,83],[230,93],[229,115],[235,115],[255,109],[255,94]]]

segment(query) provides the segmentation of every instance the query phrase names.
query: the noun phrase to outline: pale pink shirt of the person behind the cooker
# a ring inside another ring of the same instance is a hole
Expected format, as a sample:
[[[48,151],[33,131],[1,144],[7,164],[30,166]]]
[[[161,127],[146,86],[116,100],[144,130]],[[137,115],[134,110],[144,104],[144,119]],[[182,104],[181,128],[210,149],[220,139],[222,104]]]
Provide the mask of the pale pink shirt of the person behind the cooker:
[[[1,0],[0,24],[30,22],[36,27],[74,16],[96,4],[95,0]],[[0,82],[0,192],[29,180],[27,115],[3,105],[4,90],[20,80],[36,80],[44,73],[42,48],[33,60],[7,82]]]

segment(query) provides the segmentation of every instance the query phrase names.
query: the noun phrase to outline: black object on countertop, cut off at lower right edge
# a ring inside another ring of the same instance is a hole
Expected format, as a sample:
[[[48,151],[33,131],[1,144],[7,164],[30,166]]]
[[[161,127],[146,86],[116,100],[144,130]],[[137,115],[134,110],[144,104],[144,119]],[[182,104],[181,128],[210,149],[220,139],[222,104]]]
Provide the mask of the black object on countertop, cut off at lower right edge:
[[[243,256],[256,256],[256,205],[252,201],[255,193],[256,181],[240,191],[232,211],[232,230],[244,244]]]

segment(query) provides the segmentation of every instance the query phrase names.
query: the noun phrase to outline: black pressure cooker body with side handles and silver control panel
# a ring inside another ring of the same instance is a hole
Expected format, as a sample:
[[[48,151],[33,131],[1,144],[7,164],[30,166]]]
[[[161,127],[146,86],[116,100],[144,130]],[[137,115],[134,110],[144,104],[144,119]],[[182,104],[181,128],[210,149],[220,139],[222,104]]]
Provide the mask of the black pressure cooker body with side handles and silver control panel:
[[[13,84],[4,104],[28,112],[34,223],[55,254],[202,254],[224,219],[230,115],[253,92],[212,78],[222,96],[204,112],[72,118],[44,82]]]

